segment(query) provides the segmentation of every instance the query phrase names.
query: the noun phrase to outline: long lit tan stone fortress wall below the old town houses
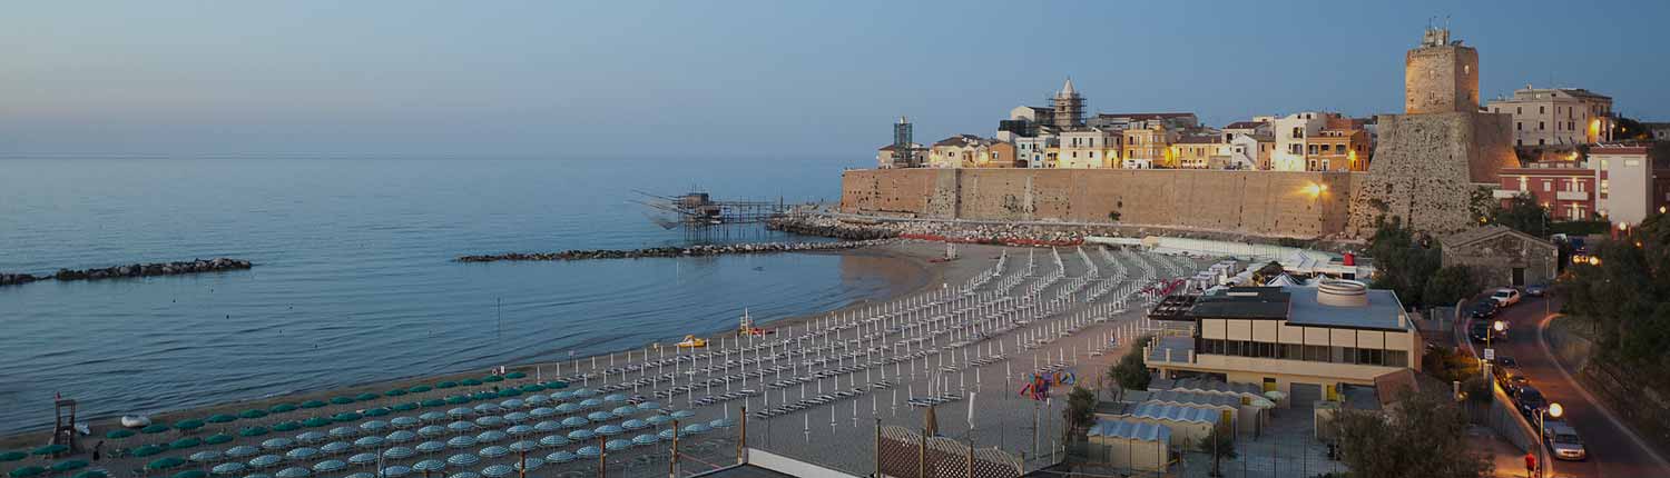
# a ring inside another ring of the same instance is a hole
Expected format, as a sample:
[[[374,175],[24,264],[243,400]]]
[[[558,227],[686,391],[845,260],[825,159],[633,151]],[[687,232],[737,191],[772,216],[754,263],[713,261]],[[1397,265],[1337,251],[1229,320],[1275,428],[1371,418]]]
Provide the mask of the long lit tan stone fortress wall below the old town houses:
[[[1269,237],[1339,233],[1361,173],[1221,170],[848,170],[842,212],[1059,220]],[[1313,197],[1311,185],[1323,188]]]

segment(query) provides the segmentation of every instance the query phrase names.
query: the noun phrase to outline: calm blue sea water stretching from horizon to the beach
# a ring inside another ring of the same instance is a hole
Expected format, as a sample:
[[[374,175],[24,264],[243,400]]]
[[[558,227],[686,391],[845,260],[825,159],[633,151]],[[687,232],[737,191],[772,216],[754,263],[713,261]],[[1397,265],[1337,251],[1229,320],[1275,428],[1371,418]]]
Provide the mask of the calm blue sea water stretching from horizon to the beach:
[[[0,270],[235,256],[249,271],[0,288],[0,431],[556,360],[893,293],[873,258],[571,263],[683,243],[633,188],[833,200],[828,160],[0,160]],[[783,240],[763,232],[741,240]],[[800,238],[803,240],[803,238]]]

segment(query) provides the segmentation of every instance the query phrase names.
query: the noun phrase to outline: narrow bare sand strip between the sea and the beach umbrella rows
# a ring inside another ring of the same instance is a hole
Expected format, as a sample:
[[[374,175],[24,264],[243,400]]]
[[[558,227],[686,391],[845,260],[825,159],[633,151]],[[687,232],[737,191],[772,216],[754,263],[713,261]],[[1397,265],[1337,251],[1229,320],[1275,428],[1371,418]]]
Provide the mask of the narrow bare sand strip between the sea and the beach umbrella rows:
[[[898,298],[898,296],[915,295],[915,293],[929,290],[934,283],[962,281],[962,280],[967,280],[965,275],[972,275],[972,271],[979,270],[979,265],[969,266],[969,265],[974,265],[974,263],[980,261],[979,258],[969,258],[969,260],[959,260],[959,261],[947,261],[947,263],[930,263],[929,258],[932,258],[935,251],[942,251],[942,250],[939,250],[939,246],[940,246],[939,243],[929,243],[929,241],[892,241],[892,243],[872,245],[872,246],[863,246],[863,248],[850,248],[850,250],[803,251],[803,253],[810,253],[810,255],[837,255],[837,256],[853,256],[853,258],[880,260],[883,263],[890,261],[890,263],[883,265],[883,268],[885,266],[900,268],[900,271],[903,271],[912,280],[908,281],[908,285],[888,290],[885,295],[880,295],[880,296],[857,298],[857,300],[852,300],[852,301],[848,301],[848,303],[845,303],[845,305],[842,305],[838,308],[822,310],[822,311],[807,313],[807,315],[797,315],[797,316],[783,316],[783,318],[770,320],[770,321],[765,321],[765,323],[758,323],[757,326],[765,328],[765,330],[780,330],[780,328],[785,328],[785,326],[797,326],[797,325],[802,325],[802,323],[810,321],[813,318],[822,318],[822,316],[828,316],[832,313],[843,313],[843,311],[857,310],[857,308],[862,308],[862,306],[868,306],[868,305],[872,305],[875,301],[887,301],[887,300],[893,300],[893,298]],[[980,255],[980,256],[984,256],[984,255]],[[888,270],[880,270],[880,271],[882,273],[890,273]],[[959,273],[964,275],[964,276],[959,276]],[[733,328],[716,330],[716,331],[703,331],[703,333],[693,333],[693,335],[696,335],[696,336],[706,336],[710,340],[718,340],[720,336],[735,336],[733,335]],[[676,341],[676,338],[675,338],[675,341]],[[620,348],[620,350],[603,351],[603,353],[574,355],[573,360],[590,360],[591,356],[610,356],[610,355],[625,353],[625,351],[638,351],[638,350],[643,350],[645,346],[648,346],[650,343],[661,343],[661,341],[648,341],[648,343],[640,345],[640,346]],[[503,366],[504,366],[506,371],[523,371],[529,378],[534,378],[534,376],[541,376],[543,371],[553,371],[553,375],[554,375],[556,363],[559,363],[559,361],[561,363],[568,363],[571,360],[564,358],[564,360],[558,360],[558,361],[533,361],[533,363],[516,363],[516,365],[506,363]],[[149,413],[149,415],[144,415],[144,416],[149,416],[152,420],[152,423],[174,423],[174,421],[185,420],[185,418],[204,418],[204,416],[215,415],[215,413],[235,415],[239,410],[245,410],[245,408],[269,408],[272,405],[287,403],[287,401],[294,403],[294,401],[306,401],[306,400],[329,400],[331,396],[339,396],[339,395],[382,393],[382,391],[391,390],[391,388],[409,388],[409,386],[416,386],[416,385],[433,385],[433,383],[438,383],[438,381],[458,381],[458,380],[464,380],[464,378],[479,378],[481,375],[488,375],[486,368],[458,370],[458,371],[433,373],[433,375],[394,376],[394,378],[377,380],[377,381],[369,381],[369,383],[352,383],[352,385],[342,385],[342,386],[326,386],[326,388],[317,388],[317,390],[294,390],[294,391],[286,391],[286,393],[269,395],[269,396],[259,396],[259,398],[215,401],[212,405],[187,406],[187,408],[180,408],[180,410],[165,410],[165,411]],[[543,378],[541,376],[539,380],[551,380],[551,378]],[[68,398],[75,398],[75,400],[80,400],[80,401],[97,400],[97,398],[90,398],[90,396],[68,396]],[[50,408],[43,408],[42,413],[48,413],[48,411],[50,411]],[[105,431],[122,428],[120,423],[119,423],[119,420],[120,420],[120,416],[97,416],[97,418],[82,420],[82,423],[89,425],[92,435],[82,436],[80,440],[85,443],[85,446],[92,446],[92,443],[97,443],[97,441],[100,441],[104,438]],[[43,445],[48,436],[50,436],[50,430],[45,430],[45,428],[27,430],[27,431],[15,431],[15,433],[0,433],[0,450],[22,450],[22,448],[38,446],[38,445]]]

